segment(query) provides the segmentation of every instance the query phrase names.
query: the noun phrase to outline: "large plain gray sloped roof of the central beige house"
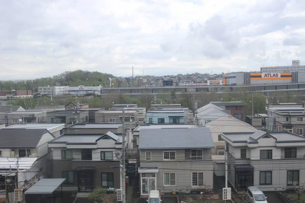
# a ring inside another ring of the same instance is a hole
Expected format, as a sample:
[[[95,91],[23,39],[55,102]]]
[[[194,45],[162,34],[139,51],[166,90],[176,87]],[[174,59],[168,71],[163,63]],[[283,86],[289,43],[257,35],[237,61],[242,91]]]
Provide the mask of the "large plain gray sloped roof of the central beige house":
[[[208,127],[141,129],[139,149],[214,148]]]

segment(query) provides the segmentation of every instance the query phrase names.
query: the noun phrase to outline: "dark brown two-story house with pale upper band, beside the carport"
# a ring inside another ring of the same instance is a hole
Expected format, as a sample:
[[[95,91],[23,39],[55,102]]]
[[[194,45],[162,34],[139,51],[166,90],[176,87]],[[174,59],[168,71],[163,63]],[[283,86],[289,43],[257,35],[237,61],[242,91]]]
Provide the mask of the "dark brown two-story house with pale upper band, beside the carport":
[[[49,142],[53,151],[54,178],[66,178],[65,187],[79,192],[96,187],[120,188],[121,136],[64,134]]]

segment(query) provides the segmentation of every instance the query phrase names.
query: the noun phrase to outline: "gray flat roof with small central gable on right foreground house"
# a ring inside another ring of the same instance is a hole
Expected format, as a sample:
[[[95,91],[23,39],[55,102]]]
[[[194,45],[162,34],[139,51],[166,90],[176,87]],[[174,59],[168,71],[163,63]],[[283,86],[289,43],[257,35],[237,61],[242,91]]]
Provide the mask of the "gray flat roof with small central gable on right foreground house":
[[[265,132],[258,130],[256,132],[222,133],[222,136],[233,143],[258,143],[258,140],[264,136],[275,139],[276,143],[305,142],[305,137],[288,131]]]

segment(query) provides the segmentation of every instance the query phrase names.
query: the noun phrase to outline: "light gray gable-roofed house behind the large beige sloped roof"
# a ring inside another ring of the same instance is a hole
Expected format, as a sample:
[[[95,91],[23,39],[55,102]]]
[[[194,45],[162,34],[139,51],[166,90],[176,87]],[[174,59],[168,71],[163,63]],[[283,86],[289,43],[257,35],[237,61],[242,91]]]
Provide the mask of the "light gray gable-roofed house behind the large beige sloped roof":
[[[199,125],[205,125],[222,116],[229,116],[229,115],[230,112],[228,110],[223,110],[222,108],[213,105],[211,103],[196,110],[196,117]]]

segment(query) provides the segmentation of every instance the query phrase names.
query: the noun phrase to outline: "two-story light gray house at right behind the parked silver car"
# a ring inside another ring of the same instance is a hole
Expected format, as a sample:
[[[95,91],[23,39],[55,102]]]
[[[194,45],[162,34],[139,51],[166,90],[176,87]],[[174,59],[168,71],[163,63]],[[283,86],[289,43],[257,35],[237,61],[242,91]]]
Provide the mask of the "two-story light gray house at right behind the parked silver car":
[[[228,154],[228,180],[237,190],[262,191],[305,184],[305,138],[288,131],[222,133]]]

